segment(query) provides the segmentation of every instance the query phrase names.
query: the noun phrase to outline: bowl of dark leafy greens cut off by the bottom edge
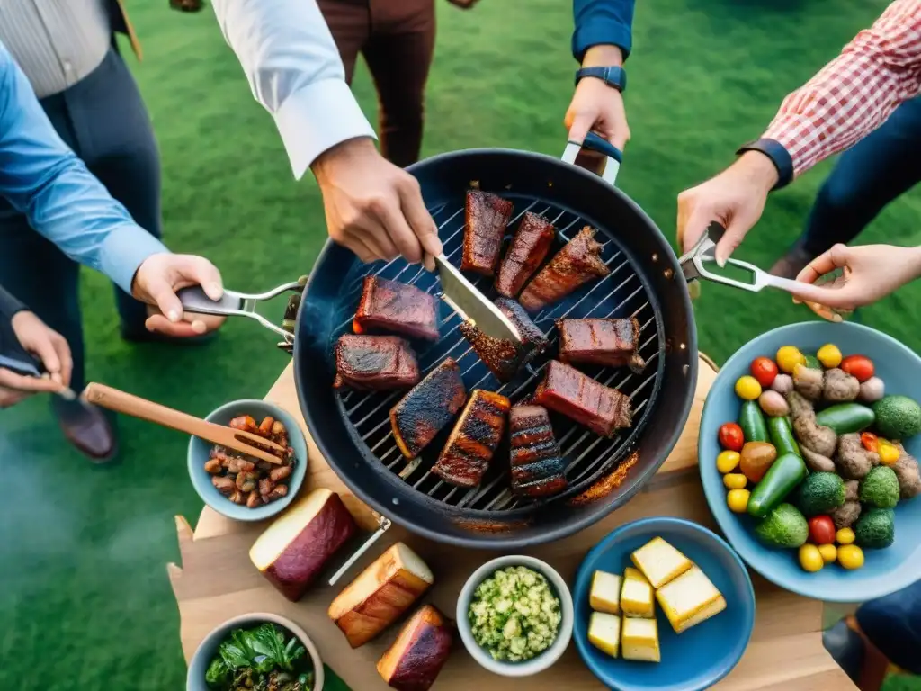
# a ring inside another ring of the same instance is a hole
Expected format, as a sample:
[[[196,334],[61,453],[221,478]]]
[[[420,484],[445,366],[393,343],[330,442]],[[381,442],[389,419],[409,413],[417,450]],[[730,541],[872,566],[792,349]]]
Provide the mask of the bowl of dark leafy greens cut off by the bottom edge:
[[[320,653],[284,616],[236,616],[209,633],[189,662],[186,691],[322,691]]]

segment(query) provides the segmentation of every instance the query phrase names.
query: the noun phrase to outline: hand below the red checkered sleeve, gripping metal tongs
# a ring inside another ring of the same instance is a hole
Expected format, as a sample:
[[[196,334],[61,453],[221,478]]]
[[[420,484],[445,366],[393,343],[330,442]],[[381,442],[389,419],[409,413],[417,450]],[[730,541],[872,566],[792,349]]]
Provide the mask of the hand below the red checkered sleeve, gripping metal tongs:
[[[743,154],[717,177],[678,195],[678,244],[687,252],[718,221],[726,233],[717,243],[717,264],[723,266],[745,234],[761,218],[767,193],[777,182],[770,158],[757,151]]]

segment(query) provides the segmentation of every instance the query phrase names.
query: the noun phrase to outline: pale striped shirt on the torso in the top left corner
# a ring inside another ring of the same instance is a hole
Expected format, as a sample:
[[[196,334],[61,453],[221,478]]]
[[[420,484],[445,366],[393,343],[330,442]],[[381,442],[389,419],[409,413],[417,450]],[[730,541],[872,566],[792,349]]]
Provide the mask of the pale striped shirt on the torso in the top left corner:
[[[40,99],[73,87],[111,45],[106,0],[0,0],[0,42]]]

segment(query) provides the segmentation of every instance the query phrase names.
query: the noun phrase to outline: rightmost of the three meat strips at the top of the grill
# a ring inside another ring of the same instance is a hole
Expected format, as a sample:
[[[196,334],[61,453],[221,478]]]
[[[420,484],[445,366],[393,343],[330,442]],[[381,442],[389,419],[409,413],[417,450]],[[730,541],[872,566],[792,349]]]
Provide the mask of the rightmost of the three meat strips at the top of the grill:
[[[601,243],[595,240],[595,230],[589,226],[579,230],[521,293],[522,307],[530,312],[542,310],[592,278],[610,274],[611,269],[601,261],[600,254]]]

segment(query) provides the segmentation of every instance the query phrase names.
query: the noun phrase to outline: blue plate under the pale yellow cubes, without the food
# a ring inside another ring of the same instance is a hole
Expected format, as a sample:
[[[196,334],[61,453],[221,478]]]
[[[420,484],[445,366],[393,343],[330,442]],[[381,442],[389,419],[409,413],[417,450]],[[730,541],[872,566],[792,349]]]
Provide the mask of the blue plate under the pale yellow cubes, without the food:
[[[656,603],[661,662],[612,658],[589,643],[589,590],[597,569],[624,573],[630,553],[661,537],[700,567],[726,598],[726,609],[680,636]],[[740,558],[722,538],[684,519],[657,517],[622,525],[582,561],[573,591],[573,637],[583,662],[600,681],[617,691],[699,691],[726,676],[739,662],[754,627],[752,580]]]

